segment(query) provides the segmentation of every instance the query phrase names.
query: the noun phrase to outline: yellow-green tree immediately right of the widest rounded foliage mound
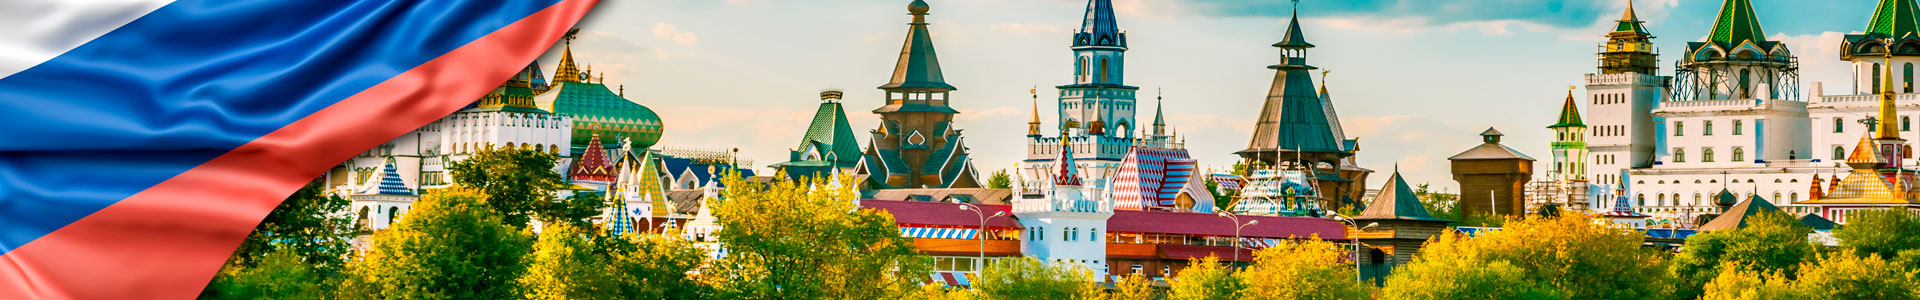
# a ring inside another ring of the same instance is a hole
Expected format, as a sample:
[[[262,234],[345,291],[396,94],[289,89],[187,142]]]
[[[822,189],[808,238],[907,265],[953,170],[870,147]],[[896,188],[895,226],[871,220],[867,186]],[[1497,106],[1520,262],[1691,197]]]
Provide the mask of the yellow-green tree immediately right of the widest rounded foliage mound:
[[[1801,262],[1812,258],[1814,248],[1807,242],[1812,229],[1793,215],[1761,212],[1747,217],[1743,229],[1709,231],[1686,238],[1686,246],[1672,262],[1672,273],[1680,279],[1678,296],[1699,296],[1703,285],[1720,275],[1724,262],[1795,279]]]

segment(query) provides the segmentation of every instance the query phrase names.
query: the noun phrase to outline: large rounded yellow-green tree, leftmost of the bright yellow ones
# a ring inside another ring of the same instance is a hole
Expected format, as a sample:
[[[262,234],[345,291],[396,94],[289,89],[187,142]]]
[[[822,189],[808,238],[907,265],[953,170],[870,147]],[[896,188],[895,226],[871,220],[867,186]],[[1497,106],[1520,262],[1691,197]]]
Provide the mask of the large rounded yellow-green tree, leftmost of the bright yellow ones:
[[[413,213],[374,233],[367,258],[348,267],[349,298],[520,298],[532,237],[503,225],[486,198],[432,192]]]

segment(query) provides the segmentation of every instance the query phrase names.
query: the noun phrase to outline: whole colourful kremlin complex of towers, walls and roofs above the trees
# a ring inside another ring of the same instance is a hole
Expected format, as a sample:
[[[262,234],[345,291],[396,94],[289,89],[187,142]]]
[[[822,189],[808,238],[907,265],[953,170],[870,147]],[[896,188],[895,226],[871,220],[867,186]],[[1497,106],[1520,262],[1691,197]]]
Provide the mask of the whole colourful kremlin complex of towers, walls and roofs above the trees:
[[[1164,281],[1190,258],[1246,263],[1252,250],[1306,237],[1357,244],[1361,275],[1380,277],[1448,231],[1450,219],[1428,213],[1398,171],[1375,190],[1361,185],[1375,171],[1356,163],[1359,138],[1346,137],[1332,96],[1313,83],[1313,44],[1298,8],[1271,44],[1281,62],[1267,65],[1275,75],[1254,135],[1235,152],[1250,167],[1225,175],[1198,169],[1185,137],[1165,123],[1158,92],[1154,102],[1139,100],[1146,94],[1125,83],[1127,33],[1114,4],[1089,0],[1081,29],[1062,37],[1073,52],[1062,63],[1075,71],[1054,87],[1054,119],[1041,119],[1041,90],[1033,90],[1027,156],[1012,169],[1010,188],[989,188],[972,163],[950,106],[968,100],[952,96],[958,88],[941,73],[931,6],[914,0],[906,10],[904,46],[877,87],[885,102],[872,110],[879,127],[856,135],[843,90],[820,92],[806,131],[770,171],[756,171],[737,150],[659,144],[662,117],[582,67],[568,37],[551,79],[528,63],[468,108],[367,150],[324,179],[353,202],[363,229],[378,231],[420,192],[453,185],[451,162],[493,148],[540,150],[561,158],[553,171],[568,188],[559,196],[593,192],[611,202],[595,219],[607,231],[682,229],[718,254],[724,246],[708,235],[722,229],[707,200],[726,188],[722,177],[847,175],[856,183],[835,185],[858,187],[862,208],[893,213],[900,235],[933,256],[939,271],[927,281],[956,287],[970,285],[983,260],[1016,256],[1085,265],[1108,281],[1127,273]],[[1841,44],[1837,63],[1855,69],[1849,87],[1830,94],[1812,83],[1812,96],[1801,98],[1799,58],[1764,38],[1749,0],[1724,0],[1713,31],[1686,44],[1672,75],[1659,75],[1653,35],[1628,4],[1597,46],[1586,96],[1569,90],[1546,127],[1555,138],[1544,173],[1534,175],[1536,160],[1488,129],[1482,144],[1450,158],[1459,206],[1467,215],[1586,210],[1644,229],[1649,246],[1743,227],[1745,215],[1768,210],[1822,229],[1814,235],[1855,210],[1920,210],[1916,169],[1907,169],[1916,165],[1905,138],[1914,133],[1912,115],[1901,112],[1920,108],[1920,6],[1882,0],[1870,17],[1864,33]],[[1215,196],[1229,196],[1231,206],[1215,208]],[[1361,213],[1334,213],[1346,208]]]

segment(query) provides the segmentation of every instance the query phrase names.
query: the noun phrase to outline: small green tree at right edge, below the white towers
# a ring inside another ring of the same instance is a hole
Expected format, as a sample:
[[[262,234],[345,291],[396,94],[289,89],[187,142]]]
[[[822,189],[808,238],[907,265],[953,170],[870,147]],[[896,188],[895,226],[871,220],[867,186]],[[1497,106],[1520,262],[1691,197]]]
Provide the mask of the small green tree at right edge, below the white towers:
[[[1841,248],[1855,256],[1878,254],[1897,258],[1903,250],[1920,250],[1920,215],[1907,210],[1847,212],[1847,225],[1834,229]]]

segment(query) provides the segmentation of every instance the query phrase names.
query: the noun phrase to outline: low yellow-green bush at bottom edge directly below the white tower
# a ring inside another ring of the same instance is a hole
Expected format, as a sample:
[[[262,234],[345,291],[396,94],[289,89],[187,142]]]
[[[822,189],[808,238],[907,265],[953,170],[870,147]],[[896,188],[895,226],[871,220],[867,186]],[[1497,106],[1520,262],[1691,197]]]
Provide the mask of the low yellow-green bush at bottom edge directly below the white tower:
[[[979,273],[985,300],[1098,300],[1092,271],[1079,265],[1048,265],[1035,258],[1006,258]]]

